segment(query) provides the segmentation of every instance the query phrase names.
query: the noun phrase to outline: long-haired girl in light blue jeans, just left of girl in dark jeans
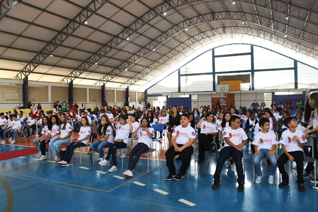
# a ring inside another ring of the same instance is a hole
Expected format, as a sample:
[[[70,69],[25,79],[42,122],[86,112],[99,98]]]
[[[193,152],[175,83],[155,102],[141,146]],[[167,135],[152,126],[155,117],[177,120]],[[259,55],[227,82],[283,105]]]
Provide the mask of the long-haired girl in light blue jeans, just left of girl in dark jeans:
[[[58,162],[58,154],[59,154],[59,146],[62,144],[68,144],[71,141],[72,135],[72,126],[69,122],[67,122],[66,113],[62,113],[60,116],[60,133],[58,134],[58,138],[49,142],[49,146],[55,156],[55,161]]]

